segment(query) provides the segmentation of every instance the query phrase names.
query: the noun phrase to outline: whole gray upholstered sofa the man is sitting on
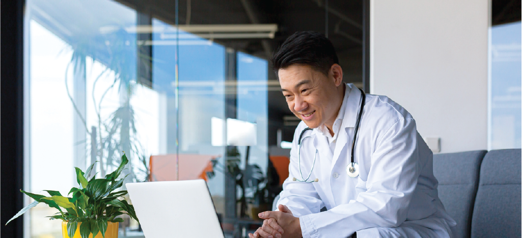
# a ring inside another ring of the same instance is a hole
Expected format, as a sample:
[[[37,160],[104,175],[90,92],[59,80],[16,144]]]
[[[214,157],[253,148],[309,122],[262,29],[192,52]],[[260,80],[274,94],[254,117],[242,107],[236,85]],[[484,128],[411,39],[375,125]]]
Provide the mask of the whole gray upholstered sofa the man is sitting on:
[[[438,197],[457,222],[453,237],[520,237],[521,158],[520,149],[433,155]]]

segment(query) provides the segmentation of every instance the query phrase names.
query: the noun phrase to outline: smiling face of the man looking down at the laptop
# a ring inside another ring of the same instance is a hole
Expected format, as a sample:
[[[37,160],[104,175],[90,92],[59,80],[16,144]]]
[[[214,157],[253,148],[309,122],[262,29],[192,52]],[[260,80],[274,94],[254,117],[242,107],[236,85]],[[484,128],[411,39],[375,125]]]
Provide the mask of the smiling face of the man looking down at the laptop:
[[[336,84],[339,83],[332,74],[331,69],[326,76],[307,65],[279,69],[279,83],[288,108],[310,128],[317,128],[337,117],[339,85]]]

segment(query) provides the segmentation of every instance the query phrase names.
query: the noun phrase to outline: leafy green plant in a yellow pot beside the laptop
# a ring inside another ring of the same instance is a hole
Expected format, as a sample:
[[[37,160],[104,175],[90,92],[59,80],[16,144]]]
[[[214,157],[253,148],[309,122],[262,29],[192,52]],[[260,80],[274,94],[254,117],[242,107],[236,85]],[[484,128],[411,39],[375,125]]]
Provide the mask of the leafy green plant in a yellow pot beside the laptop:
[[[127,191],[114,191],[123,186],[125,178],[116,179],[128,163],[128,159],[124,152],[120,166],[104,178],[96,178],[96,174],[91,178],[95,163],[89,166],[86,173],[75,167],[79,188],[70,189],[68,195],[72,197],[62,196],[60,192],[52,190],[45,190],[50,196],[20,190],[34,199],[34,202],[21,209],[7,223],[39,203],[45,203],[58,210],[50,219],[62,220],[64,238],[117,238],[118,222],[123,222],[118,216],[126,213],[138,221],[134,206],[128,204],[125,199],[119,199],[126,195]]]

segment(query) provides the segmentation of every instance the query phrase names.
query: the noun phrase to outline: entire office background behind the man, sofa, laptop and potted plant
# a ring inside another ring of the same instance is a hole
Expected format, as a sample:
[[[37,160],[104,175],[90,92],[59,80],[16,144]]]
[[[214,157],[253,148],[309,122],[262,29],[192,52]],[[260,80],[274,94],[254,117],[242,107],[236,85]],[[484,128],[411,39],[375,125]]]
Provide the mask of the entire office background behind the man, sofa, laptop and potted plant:
[[[125,151],[126,182],[205,179],[224,233],[245,237],[288,177],[299,119],[269,58],[296,31],[325,34],[343,81],[403,105],[434,153],[521,147],[520,1],[3,5],[2,221],[31,202],[18,189],[67,194],[73,167],[103,176]],[[53,213],[2,232],[62,237]],[[120,232],[143,237],[128,217]]]

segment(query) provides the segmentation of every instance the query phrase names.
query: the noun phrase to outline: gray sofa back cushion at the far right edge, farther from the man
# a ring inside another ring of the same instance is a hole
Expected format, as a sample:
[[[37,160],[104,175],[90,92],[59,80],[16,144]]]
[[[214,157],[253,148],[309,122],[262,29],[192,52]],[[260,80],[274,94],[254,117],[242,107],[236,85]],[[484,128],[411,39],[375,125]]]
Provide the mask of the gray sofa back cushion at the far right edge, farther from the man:
[[[521,150],[485,155],[471,222],[471,237],[520,237]]]

